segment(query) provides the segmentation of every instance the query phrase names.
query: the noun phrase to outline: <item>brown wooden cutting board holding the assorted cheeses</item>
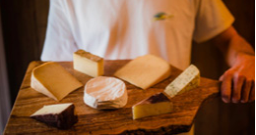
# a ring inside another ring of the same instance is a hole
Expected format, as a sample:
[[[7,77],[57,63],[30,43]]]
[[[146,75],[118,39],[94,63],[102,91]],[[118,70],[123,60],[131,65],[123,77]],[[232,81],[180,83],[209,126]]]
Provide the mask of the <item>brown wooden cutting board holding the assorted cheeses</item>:
[[[105,76],[112,74],[119,67],[124,66],[129,61],[106,61]],[[207,98],[218,95],[220,83],[216,80],[201,77],[200,87],[185,92],[171,99],[174,104],[174,112],[160,114],[133,120],[132,106],[158,92],[162,92],[181,70],[172,67],[171,76],[150,89],[142,90],[128,82],[128,103],[119,110],[98,111],[84,104],[84,88],[80,88],[62,101],[54,101],[31,88],[32,68],[43,64],[42,62],[32,62],[28,67],[15,105],[5,128],[5,134],[163,134],[180,133],[189,131],[194,117],[200,105]],[[73,63],[61,62],[69,72],[76,76],[83,84],[92,77],[73,69]],[[75,112],[78,115],[78,123],[69,130],[58,130],[38,122],[30,115],[42,108],[44,105],[58,103],[74,103]]]

